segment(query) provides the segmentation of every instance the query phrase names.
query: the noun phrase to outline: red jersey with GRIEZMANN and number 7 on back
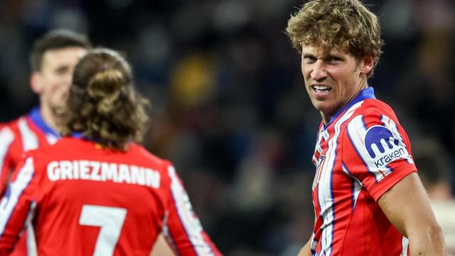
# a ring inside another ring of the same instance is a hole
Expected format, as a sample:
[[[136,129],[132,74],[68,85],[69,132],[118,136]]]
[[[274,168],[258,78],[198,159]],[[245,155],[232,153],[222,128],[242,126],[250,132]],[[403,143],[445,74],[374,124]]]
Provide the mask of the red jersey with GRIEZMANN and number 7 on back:
[[[171,163],[128,147],[65,137],[28,151],[1,201],[0,255],[27,218],[38,255],[149,255],[161,231],[178,255],[220,255]]]

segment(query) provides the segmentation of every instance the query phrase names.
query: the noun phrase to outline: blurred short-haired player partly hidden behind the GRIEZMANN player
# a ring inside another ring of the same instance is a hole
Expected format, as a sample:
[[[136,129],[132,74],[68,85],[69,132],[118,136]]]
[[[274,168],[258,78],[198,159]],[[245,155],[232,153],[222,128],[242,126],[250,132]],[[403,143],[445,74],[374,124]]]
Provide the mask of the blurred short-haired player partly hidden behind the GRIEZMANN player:
[[[0,193],[23,152],[53,144],[60,138],[56,112],[65,104],[77,61],[91,47],[86,36],[58,29],[45,33],[30,54],[30,84],[40,105],[30,113],[4,124],[0,131]],[[15,255],[34,255],[33,233],[22,235]],[[28,239],[26,238],[28,236]]]

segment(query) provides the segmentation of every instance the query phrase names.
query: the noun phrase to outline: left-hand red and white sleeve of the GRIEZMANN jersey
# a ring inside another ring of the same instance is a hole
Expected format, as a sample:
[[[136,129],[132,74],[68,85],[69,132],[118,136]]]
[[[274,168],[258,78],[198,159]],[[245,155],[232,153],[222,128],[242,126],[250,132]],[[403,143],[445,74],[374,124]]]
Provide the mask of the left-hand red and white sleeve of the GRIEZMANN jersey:
[[[33,212],[35,166],[28,156],[14,171],[11,183],[0,202],[0,255],[9,255]]]

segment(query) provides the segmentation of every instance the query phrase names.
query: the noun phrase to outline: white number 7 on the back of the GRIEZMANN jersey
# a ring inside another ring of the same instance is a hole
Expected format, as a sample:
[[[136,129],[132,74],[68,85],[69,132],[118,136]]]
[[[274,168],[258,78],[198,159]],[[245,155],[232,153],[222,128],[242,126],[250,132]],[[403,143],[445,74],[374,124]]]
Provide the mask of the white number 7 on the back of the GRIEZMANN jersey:
[[[112,255],[119,240],[127,209],[83,205],[79,224],[100,227],[93,256]]]

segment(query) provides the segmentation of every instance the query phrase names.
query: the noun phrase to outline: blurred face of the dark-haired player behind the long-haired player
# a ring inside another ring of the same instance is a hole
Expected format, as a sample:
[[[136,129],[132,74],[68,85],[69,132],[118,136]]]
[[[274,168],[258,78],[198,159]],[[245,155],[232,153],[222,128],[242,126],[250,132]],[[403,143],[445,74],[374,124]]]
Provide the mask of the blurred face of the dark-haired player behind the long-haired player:
[[[63,107],[68,98],[75,65],[85,53],[87,50],[81,47],[45,51],[34,88],[40,95],[41,106],[47,105],[50,110]]]

